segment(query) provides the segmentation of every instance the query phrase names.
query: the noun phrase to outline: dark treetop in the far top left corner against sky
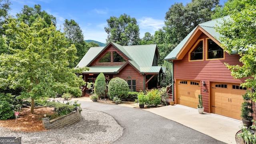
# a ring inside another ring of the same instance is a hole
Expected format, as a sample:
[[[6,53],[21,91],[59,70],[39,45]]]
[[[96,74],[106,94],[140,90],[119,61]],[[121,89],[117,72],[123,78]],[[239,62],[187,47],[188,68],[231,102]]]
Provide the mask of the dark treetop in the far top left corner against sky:
[[[0,0],[0,35],[5,34],[5,30],[2,25],[6,23],[8,12],[11,10],[10,5],[11,3],[9,0]]]

